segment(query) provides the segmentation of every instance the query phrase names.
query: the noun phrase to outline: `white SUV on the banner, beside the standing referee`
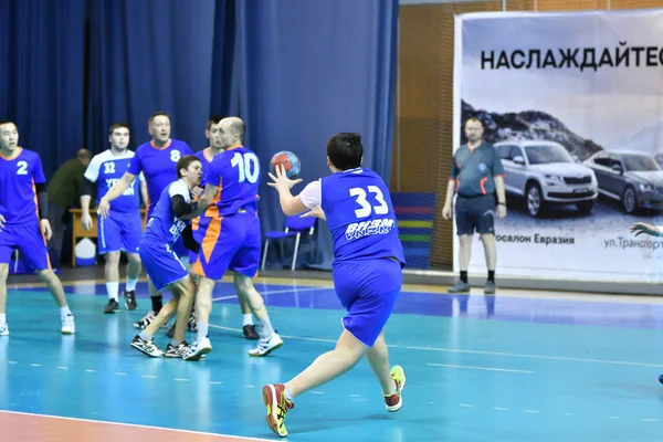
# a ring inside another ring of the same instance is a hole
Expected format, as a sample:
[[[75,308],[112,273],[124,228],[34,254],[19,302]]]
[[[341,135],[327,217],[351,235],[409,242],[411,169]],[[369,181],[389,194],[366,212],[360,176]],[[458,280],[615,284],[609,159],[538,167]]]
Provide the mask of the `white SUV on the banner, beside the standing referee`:
[[[506,172],[506,192],[525,197],[527,212],[539,217],[555,206],[575,204],[591,212],[599,194],[593,170],[578,164],[558,143],[513,140],[495,144]]]

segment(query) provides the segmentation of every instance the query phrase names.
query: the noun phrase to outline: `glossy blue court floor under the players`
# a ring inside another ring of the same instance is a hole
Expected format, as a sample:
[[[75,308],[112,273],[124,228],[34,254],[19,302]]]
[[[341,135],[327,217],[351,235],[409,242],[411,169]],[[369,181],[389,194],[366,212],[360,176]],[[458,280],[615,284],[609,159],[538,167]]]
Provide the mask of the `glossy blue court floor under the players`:
[[[334,347],[343,309],[329,283],[260,280],[285,345],[251,358],[231,283],[214,292],[213,351],[198,362],[129,347],[149,309],[104,315],[103,284],[66,286],[75,336],[40,287],[10,287],[0,337],[0,410],[256,439],[261,388]],[[408,385],[388,413],[366,361],[297,398],[293,441],[662,441],[663,299],[501,291],[469,296],[406,286],[387,328]],[[189,341],[193,334],[188,335]],[[169,341],[162,334],[157,344]],[[0,440],[2,438],[0,436]],[[11,440],[21,440],[20,436]]]

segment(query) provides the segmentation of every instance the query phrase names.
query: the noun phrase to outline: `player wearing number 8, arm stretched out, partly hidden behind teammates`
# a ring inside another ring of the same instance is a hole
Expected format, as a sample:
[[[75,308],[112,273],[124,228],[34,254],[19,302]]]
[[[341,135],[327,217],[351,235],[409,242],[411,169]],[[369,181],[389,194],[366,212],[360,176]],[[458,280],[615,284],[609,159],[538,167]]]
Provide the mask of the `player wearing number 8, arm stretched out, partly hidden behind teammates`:
[[[177,161],[185,155],[193,155],[191,148],[185,141],[170,138],[170,117],[168,114],[164,112],[154,114],[149,118],[148,129],[152,139],[136,149],[128,170],[99,200],[98,213],[102,218],[108,217],[110,201],[122,196],[131,186],[131,182],[138,178],[138,175],[143,172],[149,196],[147,208],[147,219],[149,220],[164,189],[177,180]],[[176,244],[175,251],[182,261],[188,261],[189,252],[181,241]],[[161,309],[164,297],[155,290],[151,282],[149,282],[149,292],[152,308],[143,319],[134,324],[136,328],[147,327]]]

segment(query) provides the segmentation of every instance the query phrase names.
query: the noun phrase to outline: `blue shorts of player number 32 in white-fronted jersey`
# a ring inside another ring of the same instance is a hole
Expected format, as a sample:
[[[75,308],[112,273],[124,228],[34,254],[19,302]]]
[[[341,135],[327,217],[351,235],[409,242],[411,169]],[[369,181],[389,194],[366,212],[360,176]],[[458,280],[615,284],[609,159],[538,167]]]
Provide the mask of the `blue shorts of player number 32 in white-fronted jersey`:
[[[138,253],[143,234],[140,212],[110,212],[108,218],[97,221],[97,244],[99,254],[110,252]]]

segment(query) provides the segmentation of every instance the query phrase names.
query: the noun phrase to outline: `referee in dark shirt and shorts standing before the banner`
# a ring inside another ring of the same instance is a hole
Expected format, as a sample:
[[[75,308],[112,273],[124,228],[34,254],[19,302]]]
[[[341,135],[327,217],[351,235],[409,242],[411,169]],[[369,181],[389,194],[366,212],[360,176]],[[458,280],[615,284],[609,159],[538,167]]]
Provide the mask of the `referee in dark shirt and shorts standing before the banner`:
[[[474,231],[481,235],[488,267],[485,294],[495,293],[495,214],[506,217],[504,192],[504,168],[492,145],[483,143],[483,123],[472,117],[465,123],[467,144],[461,146],[453,156],[451,179],[446,188],[446,201],[442,217],[451,219],[451,204],[457,192],[455,218],[459,233],[461,278],[449,288],[449,293],[467,293],[467,267],[472,253]],[[497,192],[497,204],[495,204]]]

